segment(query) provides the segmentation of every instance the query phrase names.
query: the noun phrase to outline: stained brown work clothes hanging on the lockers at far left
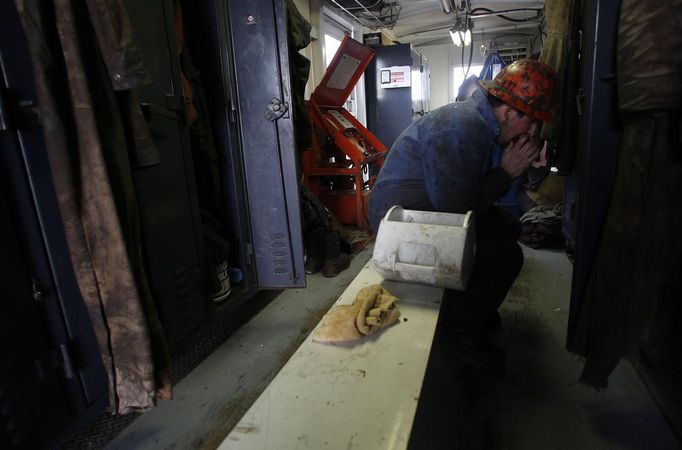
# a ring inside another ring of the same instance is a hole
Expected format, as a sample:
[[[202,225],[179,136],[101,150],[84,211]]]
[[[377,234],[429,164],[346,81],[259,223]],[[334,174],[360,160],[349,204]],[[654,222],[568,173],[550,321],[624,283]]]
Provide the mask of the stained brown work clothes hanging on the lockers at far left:
[[[109,375],[110,410],[144,410],[157,392],[170,395],[170,384],[132,181],[132,167],[159,162],[130,90],[147,78],[141,54],[120,0],[16,4],[71,262]]]

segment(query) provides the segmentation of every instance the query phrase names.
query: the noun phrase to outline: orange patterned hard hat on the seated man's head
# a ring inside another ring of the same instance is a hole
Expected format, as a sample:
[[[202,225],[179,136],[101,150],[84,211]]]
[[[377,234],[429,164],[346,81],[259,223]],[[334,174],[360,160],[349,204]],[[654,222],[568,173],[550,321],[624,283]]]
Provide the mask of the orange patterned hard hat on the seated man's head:
[[[481,82],[490,95],[543,122],[552,122],[555,83],[554,69],[534,59],[514,61],[494,80]]]

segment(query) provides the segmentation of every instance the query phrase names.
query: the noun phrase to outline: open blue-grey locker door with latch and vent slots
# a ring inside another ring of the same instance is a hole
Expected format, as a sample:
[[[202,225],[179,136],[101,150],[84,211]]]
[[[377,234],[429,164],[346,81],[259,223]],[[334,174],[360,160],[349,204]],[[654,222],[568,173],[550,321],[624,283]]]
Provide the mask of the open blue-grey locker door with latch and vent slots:
[[[284,2],[227,4],[257,285],[301,287],[305,272]]]

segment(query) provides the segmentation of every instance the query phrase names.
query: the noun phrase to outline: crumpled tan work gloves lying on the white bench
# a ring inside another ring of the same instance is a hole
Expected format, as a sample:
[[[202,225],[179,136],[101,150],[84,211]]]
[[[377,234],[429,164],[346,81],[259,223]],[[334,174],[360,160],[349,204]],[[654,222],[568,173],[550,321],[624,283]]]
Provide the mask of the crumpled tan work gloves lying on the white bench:
[[[360,289],[352,305],[333,308],[313,334],[313,341],[325,344],[361,339],[398,320],[398,301],[379,284]]]

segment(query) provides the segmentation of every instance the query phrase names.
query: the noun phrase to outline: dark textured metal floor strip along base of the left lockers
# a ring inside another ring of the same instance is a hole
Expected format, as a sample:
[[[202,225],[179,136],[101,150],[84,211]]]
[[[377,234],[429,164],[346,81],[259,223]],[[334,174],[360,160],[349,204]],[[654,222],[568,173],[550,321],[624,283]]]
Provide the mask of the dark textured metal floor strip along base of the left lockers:
[[[172,357],[171,380],[176,385],[194,370],[227,338],[267,306],[280,291],[262,291],[228,314],[223,320],[201,330]],[[101,449],[142,413],[125,415],[102,414],[90,425],[62,443],[63,450]]]

